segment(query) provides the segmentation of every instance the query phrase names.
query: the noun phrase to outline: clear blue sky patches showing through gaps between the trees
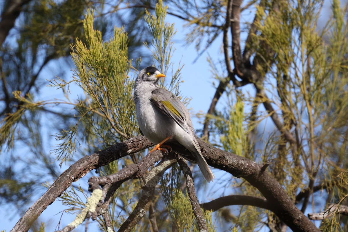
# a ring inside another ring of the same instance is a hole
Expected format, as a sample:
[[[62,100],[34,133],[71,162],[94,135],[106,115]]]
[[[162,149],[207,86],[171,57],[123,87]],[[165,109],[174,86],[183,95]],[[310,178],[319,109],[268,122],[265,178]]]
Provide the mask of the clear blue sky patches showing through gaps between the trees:
[[[245,17],[248,17],[248,16],[246,15]],[[175,62],[174,67],[176,67],[179,64],[179,62],[181,62],[181,64],[184,64],[184,67],[181,72],[182,80],[184,80],[184,82],[181,83],[181,87],[180,87],[181,93],[184,96],[192,98],[188,108],[191,108],[190,113],[192,116],[192,121],[193,121],[195,129],[201,129],[202,125],[198,123],[198,119],[196,117],[193,117],[193,115],[199,112],[206,113],[211,103],[212,97],[215,93],[215,88],[213,87],[212,82],[213,81],[215,81],[215,83],[218,83],[218,82],[212,79],[211,77],[211,72],[209,71],[210,67],[207,61],[207,54],[209,54],[215,61],[221,60],[223,58],[223,53],[221,49],[222,36],[220,35],[218,38],[216,38],[212,46],[209,47],[209,49],[207,49],[207,51],[203,55],[201,55],[196,60],[195,63],[193,63],[193,61],[197,58],[198,53],[195,49],[194,44],[191,44],[189,46],[184,45],[185,43],[183,42],[183,38],[185,33],[188,32],[188,30],[183,27],[184,22],[170,15],[166,17],[166,20],[169,23],[175,23],[175,27],[177,29],[177,34],[174,38],[174,42],[175,42],[174,47],[176,48],[176,51],[174,52],[172,61]],[[55,67],[51,67],[51,68],[55,69]],[[69,67],[69,70],[70,69],[73,69],[73,67]],[[170,72],[167,73],[167,78],[171,78],[169,74]],[[54,77],[47,77],[47,79],[53,79],[53,78]],[[253,91],[253,89],[251,87],[244,87],[243,91],[245,92]],[[61,96],[61,91],[60,90],[53,91],[52,87],[43,87],[41,89],[41,95],[40,95],[41,98],[53,99],[53,98],[59,98],[60,96]],[[219,107],[223,107],[225,105],[224,101],[226,101],[226,98],[220,99]],[[46,131],[45,134],[49,135],[49,131]],[[47,137],[44,139],[46,139],[47,142],[53,141],[52,137]],[[47,151],[48,150],[50,150],[49,147]],[[0,162],[1,162],[1,159],[4,159],[4,158],[6,158],[6,155],[0,155]],[[67,167],[63,166],[61,171],[65,170],[66,168]],[[217,178],[221,177],[222,175],[223,175],[223,178],[228,178],[227,175],[230,175],[230,174],[224,175],[222,171],[217,171],[216,169],[213,169],[213,173]],[[81,184],[87,183],[87,180],[88,180],[88,177],[84,177],[78,183],[81,183]],[[217,184],[216,182],[208,184],[205,191],[200,191],[198,193],[198,197],[201,202],[206,202],[213,198],[219,197],[219,195],[222,192],[217,192],[214,195],[211,195],[213,189],[216,189],[219,186],[219,184]],[[41,196],[41,193],[43,191],[44,191],[44,187],[42,187],[42,189],[39,191],[40,194],[32,198],[32,202],[36,201]],[[61,215],[61,213],[59,212],[62,211],[64,208],[65,207],[62,207],[59,201],[55,201],[52,205],[50,205],[44,211],[44,213],[42,213],[42,215],[40,216],[40,219],[42,221],[47,222],[47,220],[49,219],[53,220],[51,222],[51,226],[46,228],[47,231],[55,230],[55,226],[57,225]],[[307,213],[311,213],[311,212],[307,212]],[[15,225],[15,223],[19,220],[21,215],[22,213],[15,212],[11,206],[1,207],[0,208],[0,230],[5,229],[6,231],[10,231],[12,227]],[[62,226],[67,225],[71,221],[72,221],[72,218],[64,214],[62,218]],[[95,222],[90,222],[90,223],[95,223]],[[78,227],[75,231],[84,231],[84,226]],[[89,231],[92,231],[92,229],[90,229]]]

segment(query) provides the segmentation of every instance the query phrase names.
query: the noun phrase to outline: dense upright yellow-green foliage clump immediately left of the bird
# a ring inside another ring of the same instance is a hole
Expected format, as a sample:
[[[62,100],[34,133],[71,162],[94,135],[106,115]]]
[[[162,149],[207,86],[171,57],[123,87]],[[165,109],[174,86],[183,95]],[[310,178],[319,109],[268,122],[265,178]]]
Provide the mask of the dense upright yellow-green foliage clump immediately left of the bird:
[[[85,41],[76,41],[71,49],[76,65],[72,83],[79,86],[85,99],[78,99],[75,109],[78,121],[70,130],[55,137],[61,143],[56,147],[62,162],[76,151],[79,123],[84,125],[84,140],[99,146],[122,141],[134,134],[136,123],[132,101],[132,80],[128,77],[130,61],[127,58],[127,35],[123,29],[114,29],[110,42],[103,42],[100,31],[93,30],[93,13],[87,13],[84,23]],[[69,83],[70,84],[70,83]],[[55,81],[63,88],[68,83]],[[97,122],[97,123],[95,123]]]

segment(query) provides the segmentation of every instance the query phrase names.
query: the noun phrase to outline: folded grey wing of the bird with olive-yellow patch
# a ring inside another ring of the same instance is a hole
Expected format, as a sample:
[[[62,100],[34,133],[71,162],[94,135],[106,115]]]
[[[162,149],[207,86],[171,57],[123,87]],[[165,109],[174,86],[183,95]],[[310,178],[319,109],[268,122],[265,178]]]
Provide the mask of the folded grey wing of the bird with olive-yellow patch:
[[[159,109],[162,113],[171,118],[187,133],[189,129],[185,125],[186,121],[186,108],[178,97],[164,88],[158,88],[153,90],[150,101]],[[187,111],[187,110],[186,110]]]

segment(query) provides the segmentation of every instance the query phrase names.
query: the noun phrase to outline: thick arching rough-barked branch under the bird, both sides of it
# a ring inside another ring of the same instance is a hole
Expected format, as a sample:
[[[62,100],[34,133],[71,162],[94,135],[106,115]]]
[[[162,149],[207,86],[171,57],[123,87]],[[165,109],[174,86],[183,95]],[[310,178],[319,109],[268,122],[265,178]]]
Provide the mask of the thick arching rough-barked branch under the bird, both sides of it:
[[[294,202],[286,195],[284,189],[273,177],[266,171],[260,175],[261,165],[244,157],[217,149],[212,145],[204,143],[200,139],[198,139],[198,143],[209,165],[225,170],[236,177],[243,177],[246,181],[255,186],[268,202],[272,202],[274,207],[272,211],[293,231],[319,231],[315,225],[296,208]],[[141,151],[151,145],[152,143],[144,136],[137,136],[122,143],[117,143],[103,151],[81,158],[57,178],[47,192],[26,211],[24,216],[17,222],[11,231],[28,231],[32,222],[49,204],[54,202],[72,182],[85,176],[90,170],[106,165],[125,155]],[[161,155],[161,152],[155,152]],[[144,161],[144,159],[141,160],[139,165],[141,165],[141,163],[145,164],[146,162]]]

